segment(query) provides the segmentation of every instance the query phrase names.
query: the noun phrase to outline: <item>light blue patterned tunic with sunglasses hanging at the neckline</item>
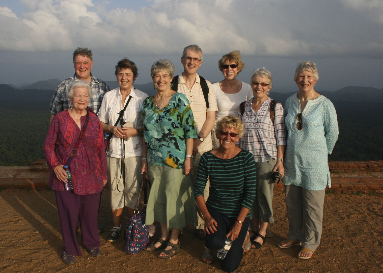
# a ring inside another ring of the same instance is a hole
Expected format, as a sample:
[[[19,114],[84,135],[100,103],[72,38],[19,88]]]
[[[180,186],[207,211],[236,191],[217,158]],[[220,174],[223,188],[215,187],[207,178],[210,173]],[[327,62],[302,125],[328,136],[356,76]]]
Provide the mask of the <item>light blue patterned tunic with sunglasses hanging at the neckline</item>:
[[[327,154],[331,154],[338,139],[338,121],[334,105],[324,96],[307,102],[302,112],[302,129],[296,129],[296,115],[301,113],[298,94],[286,100],[285,125],[285,185],[296,185],[307,190],[331,187]]]

